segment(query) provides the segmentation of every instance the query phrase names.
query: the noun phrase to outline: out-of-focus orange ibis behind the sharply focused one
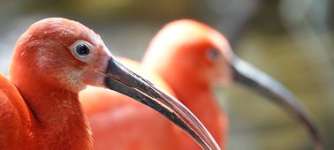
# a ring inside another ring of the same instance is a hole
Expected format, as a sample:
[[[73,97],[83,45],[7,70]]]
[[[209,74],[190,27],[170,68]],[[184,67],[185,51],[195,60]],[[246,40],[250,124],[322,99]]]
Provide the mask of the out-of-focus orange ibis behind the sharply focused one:
[[[223,149],[228,122],[213,89],[217,84],[228,85],[232,81],[283,106],[306,126],[317,146],[321,146],[314,123],[296,98],[280,83],[235,56],[223,35],[205,24],[193,20],[169,23],[152,40],[141,65],[121,60],[181,100]],[[156,112],[115,92],[87,88],[80,94],[80,100],[92,126],[96,149],[199,149]]]

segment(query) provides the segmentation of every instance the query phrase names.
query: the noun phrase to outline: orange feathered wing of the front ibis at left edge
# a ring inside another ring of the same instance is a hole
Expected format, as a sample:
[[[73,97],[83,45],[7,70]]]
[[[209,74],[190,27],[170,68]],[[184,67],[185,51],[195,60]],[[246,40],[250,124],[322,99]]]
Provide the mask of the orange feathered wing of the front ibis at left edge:
[[[0,108],[0,149],[18,149],[28,142],[31,113],[16,87],[1,74]]]

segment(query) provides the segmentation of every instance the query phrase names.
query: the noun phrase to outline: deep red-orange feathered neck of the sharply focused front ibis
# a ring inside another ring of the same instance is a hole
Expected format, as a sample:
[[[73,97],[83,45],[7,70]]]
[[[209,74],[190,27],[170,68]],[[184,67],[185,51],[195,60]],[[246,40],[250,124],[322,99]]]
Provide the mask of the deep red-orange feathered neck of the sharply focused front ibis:
[[[15,81],[34,116],[36,149],[90,149],[89,129],[77,93],[32,80]]]

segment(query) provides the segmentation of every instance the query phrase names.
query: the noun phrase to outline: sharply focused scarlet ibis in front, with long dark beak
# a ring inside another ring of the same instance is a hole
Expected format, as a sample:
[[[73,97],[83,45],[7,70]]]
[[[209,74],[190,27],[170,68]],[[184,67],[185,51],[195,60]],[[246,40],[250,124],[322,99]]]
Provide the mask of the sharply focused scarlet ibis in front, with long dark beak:
[[[78,98],[87,85],[130,96],[182,127],[203,149],[219,149],[180,102],[117,62],[94,31],[63,18],[31,25],[17,41],[10,80],[0,76],[0,149],[92,149]]]

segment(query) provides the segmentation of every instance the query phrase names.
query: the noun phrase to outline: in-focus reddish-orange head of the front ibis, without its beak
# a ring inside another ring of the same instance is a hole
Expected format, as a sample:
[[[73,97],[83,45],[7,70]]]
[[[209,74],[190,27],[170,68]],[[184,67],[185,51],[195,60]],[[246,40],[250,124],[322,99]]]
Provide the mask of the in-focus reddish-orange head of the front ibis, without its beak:
[[[19,38],[11,76],[32,73],[40,82],[78,92],[103,86],[111,55],[101,37],[82,24],[48,18],[32,24]]]

